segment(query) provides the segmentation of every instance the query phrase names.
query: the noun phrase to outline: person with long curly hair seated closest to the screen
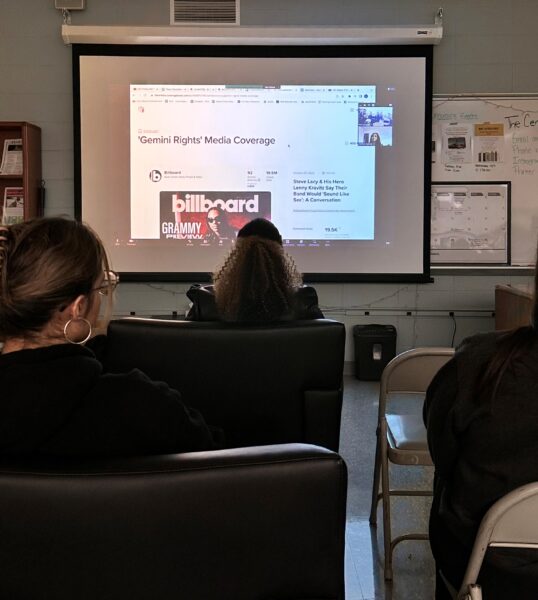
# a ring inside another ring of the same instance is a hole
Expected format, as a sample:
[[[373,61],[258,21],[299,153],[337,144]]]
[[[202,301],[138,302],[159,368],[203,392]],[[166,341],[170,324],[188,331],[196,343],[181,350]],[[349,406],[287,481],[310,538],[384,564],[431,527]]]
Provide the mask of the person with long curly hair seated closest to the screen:
[[[316,290],[302,285],[278,229],[267,219],[254,219],[239,230],[213,282],[187,292],[192,301],[188,320],[264,323],[323,318]]]

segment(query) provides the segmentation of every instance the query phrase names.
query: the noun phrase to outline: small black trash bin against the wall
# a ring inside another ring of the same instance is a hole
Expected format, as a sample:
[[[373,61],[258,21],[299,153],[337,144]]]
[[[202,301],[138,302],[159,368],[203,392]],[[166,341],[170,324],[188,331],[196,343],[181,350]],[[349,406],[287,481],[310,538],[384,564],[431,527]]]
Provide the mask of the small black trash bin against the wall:
[[[355,377],[379,381],[385,365],[396,356],[394,325],[355,325]]]

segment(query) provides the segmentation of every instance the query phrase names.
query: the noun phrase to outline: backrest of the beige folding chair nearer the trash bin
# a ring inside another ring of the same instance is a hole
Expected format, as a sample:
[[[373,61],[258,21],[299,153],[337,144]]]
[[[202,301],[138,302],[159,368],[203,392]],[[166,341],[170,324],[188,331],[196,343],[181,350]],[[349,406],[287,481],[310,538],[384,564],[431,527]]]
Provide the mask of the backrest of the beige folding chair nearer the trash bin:
[[[384,414],[388,394],[423,394],[439,369],[454,356],[454,348],[413,348],[398,354],[383,370],[379,409]]]

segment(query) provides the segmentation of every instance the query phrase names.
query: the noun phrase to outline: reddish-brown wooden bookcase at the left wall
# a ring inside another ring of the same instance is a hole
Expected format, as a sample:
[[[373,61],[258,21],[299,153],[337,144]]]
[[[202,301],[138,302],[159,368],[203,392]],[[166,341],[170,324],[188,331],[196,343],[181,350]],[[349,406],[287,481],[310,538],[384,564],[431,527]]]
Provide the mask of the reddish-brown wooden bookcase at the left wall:
[[[4,216],[6,188],[22,188],[24,220],[40,216],[43,212],[41,129],[23,121],[0,121],[0,165],[4,154],[4,142],[11,139],[22,140],[22,172],[0,172],[0,223]]]

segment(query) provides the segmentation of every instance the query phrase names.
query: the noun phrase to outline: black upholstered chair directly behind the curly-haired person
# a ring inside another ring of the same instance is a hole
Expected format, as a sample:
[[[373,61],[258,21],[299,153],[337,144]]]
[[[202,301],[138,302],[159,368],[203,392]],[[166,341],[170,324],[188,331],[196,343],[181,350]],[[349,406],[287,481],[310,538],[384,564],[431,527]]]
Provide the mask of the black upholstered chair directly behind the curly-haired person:
[[[345,328],[330,319],[244,326],[126,318],[108,328],[110,372],[166,381],[229,447],[304,442],[337,451]]]

